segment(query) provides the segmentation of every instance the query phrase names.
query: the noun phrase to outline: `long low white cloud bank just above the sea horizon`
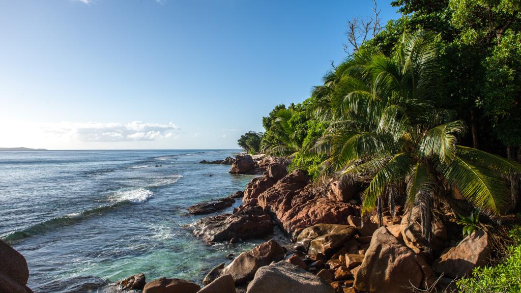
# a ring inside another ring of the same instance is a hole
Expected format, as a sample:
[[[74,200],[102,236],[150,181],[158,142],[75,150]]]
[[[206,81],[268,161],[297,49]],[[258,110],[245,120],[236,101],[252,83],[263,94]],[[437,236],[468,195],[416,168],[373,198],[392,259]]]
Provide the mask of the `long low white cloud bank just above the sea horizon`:
[[[169,138],[179,129],[173,123],[71,123],[44,124],[40,128],[49,136],[80,142],[153,141]]]

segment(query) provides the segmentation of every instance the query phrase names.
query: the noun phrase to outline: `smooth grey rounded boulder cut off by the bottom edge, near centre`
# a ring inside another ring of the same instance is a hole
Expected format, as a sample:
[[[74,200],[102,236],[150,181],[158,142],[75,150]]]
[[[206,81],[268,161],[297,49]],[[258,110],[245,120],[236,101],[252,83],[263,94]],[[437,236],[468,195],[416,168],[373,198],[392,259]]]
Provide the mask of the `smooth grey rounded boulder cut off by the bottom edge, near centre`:
[[[280,261],[257,270],[247,293],[334,293],[320,277],[299,266]]]

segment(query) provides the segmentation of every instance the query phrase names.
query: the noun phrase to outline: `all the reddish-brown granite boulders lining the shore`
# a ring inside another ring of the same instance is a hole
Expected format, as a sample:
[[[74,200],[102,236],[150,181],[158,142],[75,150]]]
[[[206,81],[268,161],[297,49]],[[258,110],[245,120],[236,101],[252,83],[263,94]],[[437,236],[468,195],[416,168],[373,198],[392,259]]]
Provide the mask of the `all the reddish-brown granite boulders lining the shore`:
[[[202,288],[165,277],[146,282],[145,275],[138,274],[119,281],[119,290],[405,293],[450,287],[454,278],[472,274],[475,266],[487,264],[490,258],[488,235],[483,231],[458,239],[448,233],[453,223],[440,216],[427,241],[419,225],[419,209],[403,211],[398,206],[384,211],[381,218],[375,214],[361,219],[358,186],[334,180],[319,191],[303,170],[288,173],[289,161],[284,158],[237,155],[232,161],[231,174],[261,176],[244,191],[189,207],[191,214],[210,214],[242,198],[233,213],[201,218],[194,235],[212,245],[262,238],[280,228],[294,244],[282,247],[269,240],[243,252],[231,263],[210,270]],[[32,292],[27,287],[25,259],[4,242],[0,245],[1,259],[11,264],[0,268],[0,291]]]

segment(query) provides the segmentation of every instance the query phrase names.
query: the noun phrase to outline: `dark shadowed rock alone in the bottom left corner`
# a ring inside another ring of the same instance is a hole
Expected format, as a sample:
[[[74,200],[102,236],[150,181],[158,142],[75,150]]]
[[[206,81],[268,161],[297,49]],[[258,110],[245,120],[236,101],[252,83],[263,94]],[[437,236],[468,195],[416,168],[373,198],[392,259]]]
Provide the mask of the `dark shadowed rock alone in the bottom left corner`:
[[[29,267],[26,258],[0,240],[0,292],[32,292],[27,287]]]

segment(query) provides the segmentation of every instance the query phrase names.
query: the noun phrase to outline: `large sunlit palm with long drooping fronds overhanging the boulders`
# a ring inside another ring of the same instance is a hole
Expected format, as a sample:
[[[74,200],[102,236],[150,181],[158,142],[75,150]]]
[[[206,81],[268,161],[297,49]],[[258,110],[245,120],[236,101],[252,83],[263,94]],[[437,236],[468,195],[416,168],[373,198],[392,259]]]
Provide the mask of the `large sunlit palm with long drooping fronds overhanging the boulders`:
[[[404,35],[392,57],[358,52],[316,88],[317,118],[330,127],[315,144],[326,153],[324,173],[366,181],[362,214],[381,213],[387,201],[404,194],[406,206],[421,207],[424,236],[430,233],[434,201],[451,188],[490,216],[508,203],[506,179],[521,165],[457,145],[466,131],[454,113],[435,106],[437,77],[434,36],[425,31]]]

